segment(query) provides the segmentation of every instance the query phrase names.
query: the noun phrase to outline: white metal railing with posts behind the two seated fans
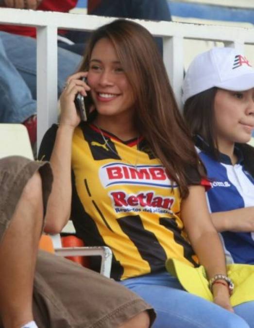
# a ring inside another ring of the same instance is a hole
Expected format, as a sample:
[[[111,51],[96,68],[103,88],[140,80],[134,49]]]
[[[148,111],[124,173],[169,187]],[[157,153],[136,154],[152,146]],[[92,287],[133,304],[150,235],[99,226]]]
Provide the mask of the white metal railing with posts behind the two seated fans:
[[[37,28],[37,140],[57,121],[57,28],[92,31],[114,20],[80,14],[0,8],[0,23]],[[153,35],[164,38],[164,62],[176,99],[181,105],[184,39],[222,41],[243,50],[254,44],[254,28],[238,28],[136,20]]]

